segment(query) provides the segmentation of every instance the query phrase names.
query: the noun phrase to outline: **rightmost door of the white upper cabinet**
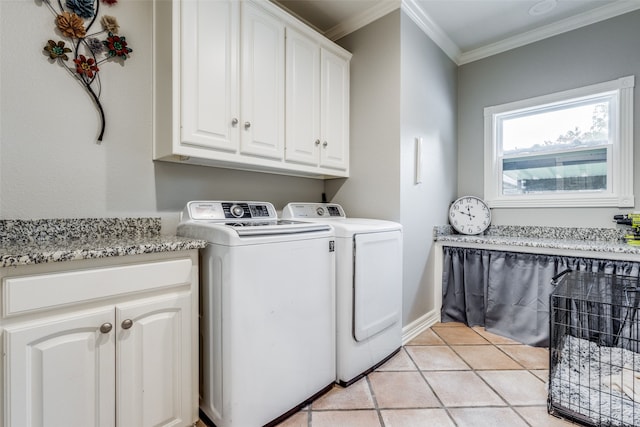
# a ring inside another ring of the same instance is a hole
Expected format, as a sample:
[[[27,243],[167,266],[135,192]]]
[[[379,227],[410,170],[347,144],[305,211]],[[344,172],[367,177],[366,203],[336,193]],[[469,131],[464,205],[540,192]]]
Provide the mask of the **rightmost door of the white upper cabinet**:
[[[349,166],[349,62],[322,49],[320,166]]]

